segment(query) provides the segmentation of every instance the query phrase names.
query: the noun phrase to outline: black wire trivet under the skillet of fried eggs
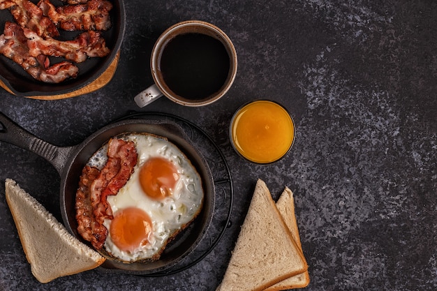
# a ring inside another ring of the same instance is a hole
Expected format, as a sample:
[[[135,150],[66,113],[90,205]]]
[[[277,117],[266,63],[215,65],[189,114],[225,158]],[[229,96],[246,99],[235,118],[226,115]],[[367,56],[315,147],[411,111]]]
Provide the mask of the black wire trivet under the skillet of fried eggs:
[[[193,122],[163,112],[129,112],[126,116],[115,121],[134,118],[168,120],[181,126],[188,137],[190,137],[191,142],[202,151],[202,155],[207,160],[214,179],[216,188],[214,216],[204,239],[200,241],[200,244],[192,253],[188,254],[184,259],[169,269],[141,276],[158,277],[177,274],[180,271],[193,267],[193,265],[203,260],[218,244],[226,228],[230,225],[234,189],[232,187],[232,177],[229,166],[225,160],[225,156],[223,156],[214,140],[212,140],[202,128],[193,124]]]

